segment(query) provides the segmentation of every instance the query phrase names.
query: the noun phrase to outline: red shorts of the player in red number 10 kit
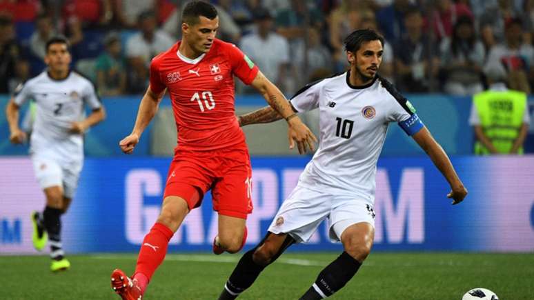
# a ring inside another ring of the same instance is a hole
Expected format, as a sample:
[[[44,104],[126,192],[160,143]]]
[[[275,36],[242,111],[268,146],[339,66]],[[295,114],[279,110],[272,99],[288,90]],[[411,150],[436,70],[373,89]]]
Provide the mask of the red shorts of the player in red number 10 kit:
[[[200,206],[210,189],[213,210],[246,219],[253,210],[252,168],[246,148],[177,150],[170,163],[164,198],[181,197],[192,210]]]

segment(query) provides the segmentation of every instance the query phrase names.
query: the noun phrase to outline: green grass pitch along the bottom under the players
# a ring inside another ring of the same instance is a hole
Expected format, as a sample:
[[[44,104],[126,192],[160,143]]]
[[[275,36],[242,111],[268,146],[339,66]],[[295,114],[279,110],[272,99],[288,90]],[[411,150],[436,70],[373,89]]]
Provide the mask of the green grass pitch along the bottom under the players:
[[[144,299],[217,299],[241,254],[168,254]],[[239,299],[298,299],[337,255],[288,252]],[[110,274],[114,268],[131,273],[136,255],[68,259],[70,270],[52,274],[46,256],[1,256],[0,299],[119,299],[110,288]],[[534,253],[373,252],[331,299],[460,300],[471,288],[488,288],[501,300],[533,300]]]

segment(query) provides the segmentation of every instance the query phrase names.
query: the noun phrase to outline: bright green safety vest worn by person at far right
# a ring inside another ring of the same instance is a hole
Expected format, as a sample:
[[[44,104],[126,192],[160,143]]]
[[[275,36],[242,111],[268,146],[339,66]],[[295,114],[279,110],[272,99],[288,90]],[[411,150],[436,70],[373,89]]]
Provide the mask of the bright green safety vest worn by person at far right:
[[[526,110],[526,94],[517,90],[479,92],[473,96],[482,131],[499,153],[509,153],[519,135]],[[519,153],[523,153],[523,147]],[[479,141],[475,154],[489,154]]]

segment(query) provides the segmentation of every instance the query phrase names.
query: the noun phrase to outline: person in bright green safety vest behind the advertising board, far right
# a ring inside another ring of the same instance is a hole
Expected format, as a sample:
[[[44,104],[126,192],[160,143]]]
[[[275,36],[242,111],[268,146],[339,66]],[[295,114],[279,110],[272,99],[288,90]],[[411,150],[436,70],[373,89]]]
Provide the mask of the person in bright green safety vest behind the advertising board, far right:
[[[475,154],[522,154],[530,116],[526,94],[508,90],[503,66],[486,69],[489,89],[475,94],[469,123],[475,128]]]

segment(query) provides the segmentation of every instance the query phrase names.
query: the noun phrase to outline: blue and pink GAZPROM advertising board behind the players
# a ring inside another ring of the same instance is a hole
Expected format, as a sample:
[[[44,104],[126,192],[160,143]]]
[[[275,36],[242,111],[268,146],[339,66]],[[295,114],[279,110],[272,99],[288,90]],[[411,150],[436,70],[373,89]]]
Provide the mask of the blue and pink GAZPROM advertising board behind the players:
[[[258,243],[305,158],[253,158],[254,212],[247,246]],[[159,212],[170,159],[86,159],[79,190],[63,217],[68,252],[136,252]],[[534,250],[534,157],[455,157],[469,190],[451,206],[448,184],[427,158],[381,159],[375,195],[375,250]],[[44,205],[30,160],[0,159],[0,252],[35,253],[30,212]],[[192,210],[170,252],[210,251],[217,214],[210,194]],[[326,225],[295,250],[339,250]]]

